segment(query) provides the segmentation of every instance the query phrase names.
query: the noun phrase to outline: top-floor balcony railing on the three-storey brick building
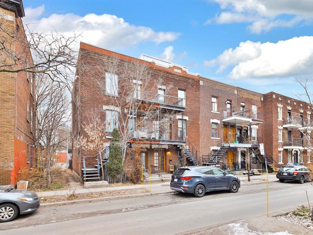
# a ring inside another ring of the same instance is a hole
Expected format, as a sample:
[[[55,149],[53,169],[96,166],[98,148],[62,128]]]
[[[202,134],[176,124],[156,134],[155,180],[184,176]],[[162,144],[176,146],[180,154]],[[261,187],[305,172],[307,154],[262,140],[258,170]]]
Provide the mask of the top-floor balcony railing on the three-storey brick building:
[[[161,105],[176,106],[184,108],[185,100],[176,96],[165,94],[152,94],[148,92],[136,93],[133,98],[135,100],[141,100],[148,103],[156,103]]]

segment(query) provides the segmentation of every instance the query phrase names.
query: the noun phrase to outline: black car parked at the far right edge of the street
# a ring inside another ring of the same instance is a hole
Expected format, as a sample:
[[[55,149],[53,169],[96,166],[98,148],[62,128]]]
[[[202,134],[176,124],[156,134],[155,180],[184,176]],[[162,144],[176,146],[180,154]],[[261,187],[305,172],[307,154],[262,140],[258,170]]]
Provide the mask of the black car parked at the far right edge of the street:
[[[285,180],[298,181],[303,184],[307,180],[311,180],[311,170],[304,165],[284,165],[279,168],[276,178],[280,182]]]

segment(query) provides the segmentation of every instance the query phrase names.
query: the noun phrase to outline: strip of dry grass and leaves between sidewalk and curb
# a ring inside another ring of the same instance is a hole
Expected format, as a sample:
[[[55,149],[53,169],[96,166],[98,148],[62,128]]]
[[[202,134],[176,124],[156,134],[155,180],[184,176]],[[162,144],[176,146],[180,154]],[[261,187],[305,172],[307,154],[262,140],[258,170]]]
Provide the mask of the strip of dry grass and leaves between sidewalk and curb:
[[[89,193],[79,193],[76,194],[75,190],[69,190],[68,195],[63,196],[51,196],[51,197],[42,197],[41,203],[49,202],[63,202],[63,201],[72,201],[77,199],[91,199],[97,197],[111,197],[111,196],[122,196],[122,195],[131,195],[131,194],[140,194],[149,192],[147,188],[134,188],[134,189],[123,189],[123,190],[110,190],[103,192],[89,192]]]

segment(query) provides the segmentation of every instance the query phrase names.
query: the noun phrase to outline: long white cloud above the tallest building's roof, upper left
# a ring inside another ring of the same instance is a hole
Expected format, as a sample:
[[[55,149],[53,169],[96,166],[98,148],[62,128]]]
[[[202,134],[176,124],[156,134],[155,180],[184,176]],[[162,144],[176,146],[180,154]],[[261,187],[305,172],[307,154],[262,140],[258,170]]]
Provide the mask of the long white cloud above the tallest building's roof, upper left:
[[[39,32],[56,30],[62,34],[82,35],[82,41],[110,49],[133,47],[141,42],[172,42],[179,37],[177,32],[156,32],[150,27],[137,26],[110,14],[52,14],[41,18],[45,6],[26,8],[24,24]]]

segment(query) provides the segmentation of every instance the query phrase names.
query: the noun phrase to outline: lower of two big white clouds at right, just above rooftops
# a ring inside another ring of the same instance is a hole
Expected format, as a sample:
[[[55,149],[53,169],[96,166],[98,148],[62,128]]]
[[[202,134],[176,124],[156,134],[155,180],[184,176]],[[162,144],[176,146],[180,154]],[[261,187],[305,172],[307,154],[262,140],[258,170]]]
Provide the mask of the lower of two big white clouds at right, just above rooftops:
[[[216,59],[204,62],[219,66],[217,72],[231,65],[232,79],[294,77],[313,72],[313,36],[291,38],[277,43],[244,42],[225,50]]]

